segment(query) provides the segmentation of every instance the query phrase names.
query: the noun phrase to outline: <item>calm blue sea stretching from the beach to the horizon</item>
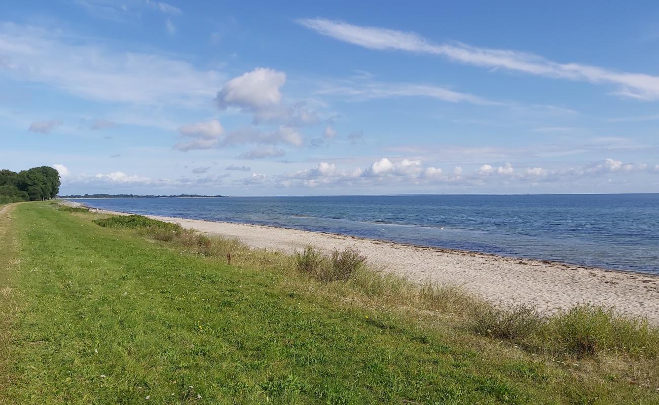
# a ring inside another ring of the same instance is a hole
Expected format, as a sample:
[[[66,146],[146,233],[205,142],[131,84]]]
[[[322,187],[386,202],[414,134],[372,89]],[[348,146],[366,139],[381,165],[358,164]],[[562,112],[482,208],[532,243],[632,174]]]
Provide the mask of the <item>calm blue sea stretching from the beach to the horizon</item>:
[[[130,213],[319,230],[659,274],[659,194],[78,201]]]

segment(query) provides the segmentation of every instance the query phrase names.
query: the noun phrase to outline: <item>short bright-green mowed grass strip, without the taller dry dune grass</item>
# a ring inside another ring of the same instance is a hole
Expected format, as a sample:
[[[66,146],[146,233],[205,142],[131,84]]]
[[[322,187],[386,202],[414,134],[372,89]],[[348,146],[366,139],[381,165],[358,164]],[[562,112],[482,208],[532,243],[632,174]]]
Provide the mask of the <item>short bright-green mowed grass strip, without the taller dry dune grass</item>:
[[[84,214],[82,214],[84,215]],[[50,207],[13,211],[11,404],[653,404],[468,331],[362,308]]]

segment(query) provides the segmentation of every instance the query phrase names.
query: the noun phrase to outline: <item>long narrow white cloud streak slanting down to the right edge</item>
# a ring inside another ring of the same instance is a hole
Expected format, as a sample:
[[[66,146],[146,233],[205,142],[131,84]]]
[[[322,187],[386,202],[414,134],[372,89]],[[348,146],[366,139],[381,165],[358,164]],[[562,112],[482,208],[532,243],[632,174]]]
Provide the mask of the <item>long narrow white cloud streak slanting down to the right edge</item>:
[[[538,55],[507,49],[479,48],[463,43],[435,44],[413,32],[356,26],[323,18],[299,20],[299,23],[319,34],[369,49],[428,53],[468,65],[501,68],[549,78],[614,84],[618,86],[616,94],[637,99],[659,99],[659,77],[649,74],[616,72],[579,63],[556,63]]]

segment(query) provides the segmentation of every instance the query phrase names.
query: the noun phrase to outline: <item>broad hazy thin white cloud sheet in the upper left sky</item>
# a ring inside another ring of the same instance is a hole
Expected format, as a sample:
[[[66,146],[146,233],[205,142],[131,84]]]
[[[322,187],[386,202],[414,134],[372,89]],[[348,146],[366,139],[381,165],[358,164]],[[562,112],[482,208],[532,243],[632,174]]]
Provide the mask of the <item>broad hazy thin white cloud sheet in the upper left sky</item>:
[[[196,107],[214,95],[223,75],[153,53],[117,52],[89,39],[0,24],[0,74],[38,82],[85,99]]]

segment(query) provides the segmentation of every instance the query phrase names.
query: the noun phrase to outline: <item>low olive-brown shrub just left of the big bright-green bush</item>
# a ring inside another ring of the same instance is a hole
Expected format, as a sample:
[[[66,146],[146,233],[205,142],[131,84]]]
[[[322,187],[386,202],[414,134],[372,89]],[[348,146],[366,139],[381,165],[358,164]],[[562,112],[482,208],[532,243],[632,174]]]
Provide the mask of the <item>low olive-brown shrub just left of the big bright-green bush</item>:
[[[534,306],[480,304],[472,314],[474,332],[494,338],[519,341],[538,332],[546,321]]]

